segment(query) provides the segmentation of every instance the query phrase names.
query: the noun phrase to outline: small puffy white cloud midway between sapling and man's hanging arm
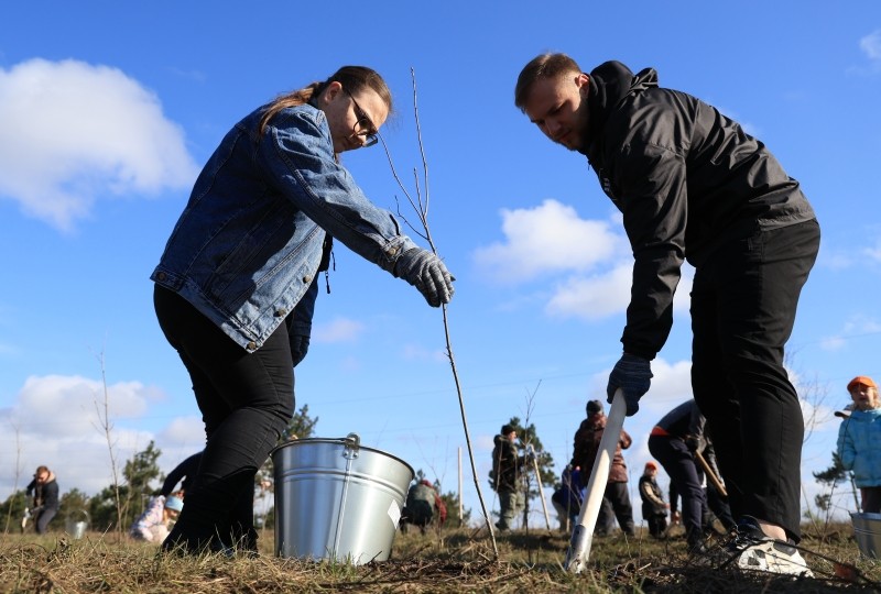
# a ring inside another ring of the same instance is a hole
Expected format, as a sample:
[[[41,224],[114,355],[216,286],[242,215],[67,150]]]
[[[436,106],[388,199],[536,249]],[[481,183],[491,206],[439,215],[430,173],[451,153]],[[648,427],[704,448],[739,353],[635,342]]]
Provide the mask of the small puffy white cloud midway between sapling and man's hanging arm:
[[[574,208],[556,200],[533,209],[504,209],[501,216],[504,242],[475,253],[481,271],[499,282],[518,284],[547,273],[590,271],[628,249],[608,221],[580,219]]]

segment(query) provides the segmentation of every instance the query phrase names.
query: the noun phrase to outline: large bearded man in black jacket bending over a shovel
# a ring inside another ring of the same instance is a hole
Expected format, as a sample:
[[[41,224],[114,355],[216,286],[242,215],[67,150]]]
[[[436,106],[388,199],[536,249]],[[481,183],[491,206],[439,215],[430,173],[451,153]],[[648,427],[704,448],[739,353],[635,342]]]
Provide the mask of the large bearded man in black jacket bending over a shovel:
[[[804,426],[783,348],[819,249],[798,182],[737,122],[659,87],[652,68],[633,75],[607,62],[586,74],[564,54],[544,54],[514,94],[547,138],[587,156],[623,215],[633,284],[607,392],[622,389],[628,415],[673,323],[681,266],[695,266],[692,385],[740,532],[755,541],[739,562],[787,572],[771,549],[801,538]],[[807,571],[795,549],[782,554],[793,573]]]

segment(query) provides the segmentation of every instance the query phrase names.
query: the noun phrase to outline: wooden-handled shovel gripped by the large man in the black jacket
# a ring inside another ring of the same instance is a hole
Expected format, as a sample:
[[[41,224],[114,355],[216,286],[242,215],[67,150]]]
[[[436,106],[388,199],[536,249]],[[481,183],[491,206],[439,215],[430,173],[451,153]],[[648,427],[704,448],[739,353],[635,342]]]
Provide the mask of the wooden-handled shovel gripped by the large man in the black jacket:
[[[618,388],[612,399],[609,417],[606,420],[606,429],[602,430],[602,439],[599,441],[599,451],[594,461],[594,470],[590,471],[590,480],[587,483],[587,495],[581,504],[581,513],[578,521],[572,531],[569,550],[566,553],[564,569],[572,573],[581,573],[590,556],[590,544],[594,541],[594,528],[597,526],[597,516],[602,504],[602,496],[606,492],[606,483],[609,481],[609,470],[611,469],[614,450],[621,437],[621,429],[624,426],[624,415],[627,404],[624,394]]]

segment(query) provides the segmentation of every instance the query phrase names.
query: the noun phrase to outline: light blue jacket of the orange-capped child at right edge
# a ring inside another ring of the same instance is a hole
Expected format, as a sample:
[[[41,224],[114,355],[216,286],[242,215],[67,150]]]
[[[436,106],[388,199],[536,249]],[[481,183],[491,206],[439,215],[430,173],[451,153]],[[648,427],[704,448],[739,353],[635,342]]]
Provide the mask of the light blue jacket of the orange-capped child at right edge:
[[[881,408],[853,410],[841,421],[838,455],[858,487],[881,486]]]

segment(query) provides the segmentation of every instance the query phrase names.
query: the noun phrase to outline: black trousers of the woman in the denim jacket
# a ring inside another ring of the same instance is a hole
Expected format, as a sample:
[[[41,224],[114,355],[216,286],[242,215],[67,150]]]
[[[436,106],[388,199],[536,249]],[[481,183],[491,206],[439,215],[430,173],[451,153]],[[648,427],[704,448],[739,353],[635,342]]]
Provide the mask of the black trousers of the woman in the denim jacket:
[[[284,323],[253,353],[177,294],[156,286],[156,316],[193,381],[206,446],[184,509],[164,547],[257,548],[254,474],[294,414],[294,372]]]

